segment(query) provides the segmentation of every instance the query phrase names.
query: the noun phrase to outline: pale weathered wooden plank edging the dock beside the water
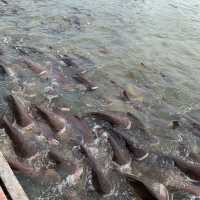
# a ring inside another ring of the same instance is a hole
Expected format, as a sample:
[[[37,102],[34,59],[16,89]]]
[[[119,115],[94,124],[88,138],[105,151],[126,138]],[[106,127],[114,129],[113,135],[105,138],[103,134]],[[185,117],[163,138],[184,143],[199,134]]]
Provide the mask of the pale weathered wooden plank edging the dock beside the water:
[[[10,197],[13,200],[28,200],[23,188],[19,184],[16,176],[11,170],[9,164],[0,152],[0,178],[3,181]],[[0,199],[1,200],[1,199]]]

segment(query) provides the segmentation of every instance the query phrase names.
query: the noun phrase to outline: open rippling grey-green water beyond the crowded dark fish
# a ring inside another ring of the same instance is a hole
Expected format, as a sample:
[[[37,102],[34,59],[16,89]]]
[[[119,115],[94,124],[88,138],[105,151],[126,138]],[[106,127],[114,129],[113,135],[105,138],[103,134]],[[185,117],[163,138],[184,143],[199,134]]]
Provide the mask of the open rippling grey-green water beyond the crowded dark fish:
[[[176,116],[200,118],[199,8],[198,0],[0,2],[0,46],[11,63],[19,56],[16,46],[84,57],[81,67],[99,89],[63,92],[53,104],[74,113],[132,111],[159,138],[156,149],[176,152],[184,143],[199,152],[200,141],[191,132],[168,128]],[[40,53],[31,56],[44,62]],[[21,79],[28,78],[37,80],[22,72]],[[2,112],[11,85],[10,80],[0,82]],[[133,104],[120,100],[121,88],[129,91]],[[44,94],[36,91],[38,102]]]

